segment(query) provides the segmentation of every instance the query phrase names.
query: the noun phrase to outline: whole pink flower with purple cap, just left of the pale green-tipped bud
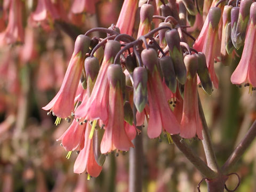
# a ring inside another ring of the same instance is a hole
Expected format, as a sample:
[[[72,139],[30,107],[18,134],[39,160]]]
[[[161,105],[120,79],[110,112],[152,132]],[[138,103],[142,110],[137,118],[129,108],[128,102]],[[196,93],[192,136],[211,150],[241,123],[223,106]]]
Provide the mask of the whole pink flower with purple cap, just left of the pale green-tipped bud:
[[[108,153],[111,150],[118,149],[127,151],[130,147],[134,147],[131,139],[133,134],[126,133],[124,128],[124,101],[123,86],[125,76],[120,65],[110,65],[108,67],[107,76],[109,79],[109,106],[108,106],[108,122],[100,144],[101,153]]]

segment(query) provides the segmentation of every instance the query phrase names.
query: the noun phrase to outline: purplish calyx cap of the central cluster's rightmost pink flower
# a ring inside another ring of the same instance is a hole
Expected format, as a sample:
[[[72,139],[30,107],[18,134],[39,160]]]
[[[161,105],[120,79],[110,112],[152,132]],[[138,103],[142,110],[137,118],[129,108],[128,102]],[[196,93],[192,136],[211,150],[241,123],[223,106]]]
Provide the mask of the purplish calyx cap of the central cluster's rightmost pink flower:
[[[198,57],[196,54],[188,54],[184,57],[184,63],[188,71],[188,78],[194,78],[198,69]]]

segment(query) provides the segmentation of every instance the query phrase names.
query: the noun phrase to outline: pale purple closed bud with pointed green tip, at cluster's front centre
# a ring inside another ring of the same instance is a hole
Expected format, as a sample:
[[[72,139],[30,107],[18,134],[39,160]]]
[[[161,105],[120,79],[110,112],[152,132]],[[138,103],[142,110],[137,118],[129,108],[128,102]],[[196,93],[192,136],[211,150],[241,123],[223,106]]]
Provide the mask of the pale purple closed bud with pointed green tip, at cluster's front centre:
[[[148,100],[147,82],[148,72],[146,68],[137,67],[133,71],[133,102],[139,112],[145,108]]]

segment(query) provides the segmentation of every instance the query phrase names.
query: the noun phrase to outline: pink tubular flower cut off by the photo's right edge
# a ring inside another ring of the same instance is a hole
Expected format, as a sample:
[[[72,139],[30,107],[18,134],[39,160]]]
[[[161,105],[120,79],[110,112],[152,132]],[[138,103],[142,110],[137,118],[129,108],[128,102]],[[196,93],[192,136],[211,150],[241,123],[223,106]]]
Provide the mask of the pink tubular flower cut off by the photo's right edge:
[[[250,9],[250,25],[244,43],[244,50],[238,66],[231,75],[233,84],[250,83],[256,87],[256,3]]]

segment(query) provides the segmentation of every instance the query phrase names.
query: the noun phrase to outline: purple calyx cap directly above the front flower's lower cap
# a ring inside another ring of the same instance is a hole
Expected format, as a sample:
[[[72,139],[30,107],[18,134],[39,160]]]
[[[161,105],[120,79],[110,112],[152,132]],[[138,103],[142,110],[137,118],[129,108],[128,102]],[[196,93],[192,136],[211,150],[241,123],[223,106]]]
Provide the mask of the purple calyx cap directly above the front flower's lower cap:
[[[121,44],[118,41],[109,40],[106,43],[105,51],[104,51],[104,56],[106,57],[106,61],[108,61],[109,59],[113,59],[112,62],[114,62],[116,54],[120,50],[121,50]]]

